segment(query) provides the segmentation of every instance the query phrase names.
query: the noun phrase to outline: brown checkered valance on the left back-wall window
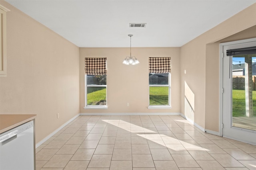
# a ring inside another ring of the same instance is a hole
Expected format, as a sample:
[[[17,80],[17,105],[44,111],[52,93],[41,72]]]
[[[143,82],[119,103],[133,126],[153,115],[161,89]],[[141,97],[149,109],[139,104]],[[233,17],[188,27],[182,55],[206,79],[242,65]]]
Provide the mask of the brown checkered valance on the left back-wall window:
[[[107,74],[107,58],[85,58],[85,74]]]

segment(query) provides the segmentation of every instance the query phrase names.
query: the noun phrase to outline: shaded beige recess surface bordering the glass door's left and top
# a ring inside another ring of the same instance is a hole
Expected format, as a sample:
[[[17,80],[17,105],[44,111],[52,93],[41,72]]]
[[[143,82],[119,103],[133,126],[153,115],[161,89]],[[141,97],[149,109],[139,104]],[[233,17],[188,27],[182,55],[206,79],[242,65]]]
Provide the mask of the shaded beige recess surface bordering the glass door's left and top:
[[[216,100],[216,98],[219,98],[219,95],[216,94],[219,93],[218,83],[220,72],[216,69],[219,67],[216,66],[219,66],[220,64],[220,43],[255,37],[256,25],[248,29],[245,29],[244,31],[231,35],[230,37],[217,41],[216,43],[210,43],[206,45],[206,97],[209,99],[206,100],[206,129],[218,131],[218,126],[216,122],[219,120],[219,116],[217,116],[219,114],[219,108],[216,106],[219,106],[219,101]]]

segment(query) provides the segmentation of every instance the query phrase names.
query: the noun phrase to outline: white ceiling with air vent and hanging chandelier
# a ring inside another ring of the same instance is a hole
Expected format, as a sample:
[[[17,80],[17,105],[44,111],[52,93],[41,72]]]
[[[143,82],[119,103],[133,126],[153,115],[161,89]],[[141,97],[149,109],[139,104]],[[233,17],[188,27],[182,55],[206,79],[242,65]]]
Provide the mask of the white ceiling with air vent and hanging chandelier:
[[[180,47],[256,0],[6,0],[78,47]],[[147,23],[145,28],[129,23]]]

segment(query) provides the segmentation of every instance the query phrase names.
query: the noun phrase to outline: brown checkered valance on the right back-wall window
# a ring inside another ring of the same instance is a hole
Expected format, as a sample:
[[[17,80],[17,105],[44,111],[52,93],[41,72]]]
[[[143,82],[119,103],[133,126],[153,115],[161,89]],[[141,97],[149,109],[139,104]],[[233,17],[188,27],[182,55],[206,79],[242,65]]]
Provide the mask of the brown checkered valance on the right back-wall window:
[[[149,72],[171,72],[171,57],[149,57]]]

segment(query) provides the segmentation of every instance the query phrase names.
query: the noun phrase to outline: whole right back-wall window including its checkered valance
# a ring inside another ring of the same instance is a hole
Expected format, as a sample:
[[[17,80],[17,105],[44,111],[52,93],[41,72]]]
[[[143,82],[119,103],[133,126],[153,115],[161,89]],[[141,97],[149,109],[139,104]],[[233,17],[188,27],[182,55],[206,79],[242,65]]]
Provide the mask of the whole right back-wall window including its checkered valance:
[[[149,58],[149,109],[170,108],[170,57]]]

